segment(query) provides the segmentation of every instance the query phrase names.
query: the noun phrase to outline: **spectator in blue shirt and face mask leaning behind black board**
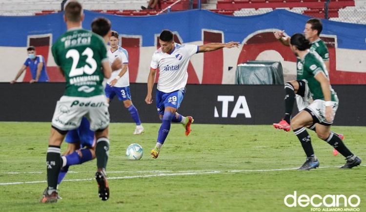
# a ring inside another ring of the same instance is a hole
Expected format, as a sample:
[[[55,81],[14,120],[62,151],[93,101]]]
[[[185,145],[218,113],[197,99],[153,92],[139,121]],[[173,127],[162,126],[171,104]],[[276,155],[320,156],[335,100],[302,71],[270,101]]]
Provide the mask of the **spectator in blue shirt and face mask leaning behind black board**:
[[[34,46],[29,46],[27,48],[27,52],[28,52],[28,58],[21,66],[15,79],[10,81],[10,83],[17,82],[18,78],[26,70],[27,66],[29,66],[32,75],[32,79],[29,81],[29,83],[48,82],[48,76],[43,56],[36,55],[36,48]]]

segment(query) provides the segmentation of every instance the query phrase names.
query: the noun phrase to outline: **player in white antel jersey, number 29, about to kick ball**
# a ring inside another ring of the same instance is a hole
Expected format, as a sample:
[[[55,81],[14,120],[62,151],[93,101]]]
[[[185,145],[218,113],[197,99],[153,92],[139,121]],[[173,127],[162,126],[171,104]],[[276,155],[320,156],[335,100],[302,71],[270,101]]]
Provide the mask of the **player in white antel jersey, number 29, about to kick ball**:
[[[151,150],[151,156],[157,158],[161,147],[169,133],[171,122],[180,122],[185,127],[185,135],[191,132],[193,123],[191,116],[184,117],[177,113],[183,100],[185,85],[187,84],[187,68],[189,59],[196,53],[215,51],[221,48],[238,47],[238,42],[209,43],[201,46],[190,44],[178,44],[174,42],[173,33],[163,30],[159,36],[161,48],[155,51],[150,64],[150,74],[147,79],[147,95],[145,102],[152,104],[152,89],[155,82],[155,74],[159,68],[159,80],[156,91],[156,107],[162,125],[156,146]]]

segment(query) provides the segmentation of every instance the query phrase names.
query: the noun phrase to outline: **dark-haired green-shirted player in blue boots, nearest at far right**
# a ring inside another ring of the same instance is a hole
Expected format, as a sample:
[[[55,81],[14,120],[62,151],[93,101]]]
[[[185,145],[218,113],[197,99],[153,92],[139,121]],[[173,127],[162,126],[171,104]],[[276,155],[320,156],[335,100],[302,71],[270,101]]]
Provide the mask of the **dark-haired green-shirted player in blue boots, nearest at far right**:
[[[306,154],[306,161],[299,170],[310,170],[319,167],[319,161],[311,146],[310,135],[306,126],[318,123],[316,134],[346,157],[346,164],[341,168],[352,168],[360,165],[361,159],[352,154],[341,138],[330,131],[338,108],[338,97],[329,83],[328,72],[323,59],[313,50],[312,44],[302,34],[295,34],[290,39],[291,51],[301,59],[302,70],[299,77],[307,81],[314,101],[300,111],[291,121],[291,128],[299,138]]]

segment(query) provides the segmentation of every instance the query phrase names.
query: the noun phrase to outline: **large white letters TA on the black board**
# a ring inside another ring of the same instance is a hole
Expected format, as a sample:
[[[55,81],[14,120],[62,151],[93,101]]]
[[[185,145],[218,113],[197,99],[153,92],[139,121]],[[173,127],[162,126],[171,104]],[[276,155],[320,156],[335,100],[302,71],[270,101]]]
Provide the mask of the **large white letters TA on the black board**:
[[[221,117],[227,118],[229,102],[234,101],[234,96],[217,96],[217,101],[223,102]],[[245,96],[239,96],[230,115],[230,118],[236,118],[238,114],[244,114],[246,118],[252,117]],[[219,113],[217,112],[216,106],[214,108],[214,117],[220,117]]]

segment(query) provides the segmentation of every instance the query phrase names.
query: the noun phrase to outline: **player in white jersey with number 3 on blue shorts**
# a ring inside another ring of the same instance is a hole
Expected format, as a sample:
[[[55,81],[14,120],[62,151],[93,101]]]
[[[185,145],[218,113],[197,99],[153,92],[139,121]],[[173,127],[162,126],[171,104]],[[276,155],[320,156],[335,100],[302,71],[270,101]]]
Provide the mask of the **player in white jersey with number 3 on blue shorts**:
[[[109,39],[109,45],[111,46],[108,51],[109,63],[112,64],[117,58],[122,60],[122,69],[112,72],[112,76],[108,79],[105,86],[105,96],[107,101],[111,101],[114,96],[117,95],[120,101],[123,101],[123,105],[130,112],[131,117],[136,123],[136,129],[134,135],[140,135],[144,132],[141,124],[139,112],[131,101],[130,93],[130,80],[128,75],[128,53],[121,46],[118,46],[118,33],[112,31],[112,36]]]

